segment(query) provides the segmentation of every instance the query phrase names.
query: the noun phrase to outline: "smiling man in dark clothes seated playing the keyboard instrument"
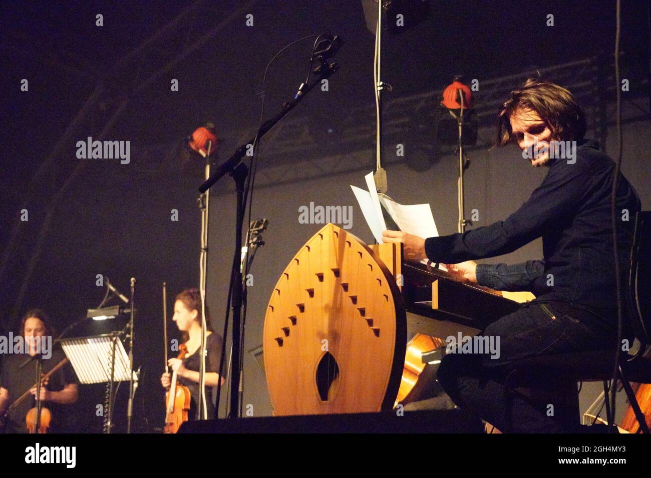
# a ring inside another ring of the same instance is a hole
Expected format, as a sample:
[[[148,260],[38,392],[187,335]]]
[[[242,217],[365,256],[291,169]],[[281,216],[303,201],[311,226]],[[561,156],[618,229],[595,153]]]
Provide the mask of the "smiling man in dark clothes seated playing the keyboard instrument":
[[[576,384],[540,385],[533,399],[511,394],[505,365],[538,355],[621,348],[617,337],[617,294],[613,259],[611,191],[615,163],[594,140],[584,140],[585,116],[574,96],[561,86],[529,79],[501,105],[497,143],[523,150],[532,166],[547,174],[527,202],[503,221],[427,239],[385,231],[385,242],[404,243],[409,259],[449,263],[452,274],[505,291],[531,291],[536,299],[495,321],[483,338],[499,338],[499,357],[486,353],[448,353],[437,371],[439,382],[460,408],[474,412],[502,432],[578,432],[570,406]],[[568,154],[559,155],[564,151]],[[508,192],[505,192],[508,194]],[[621,284],[626,284],[639,198],[618,176],[616,232]],[[477,264],[472,259],[508,254],[542,237],[543,259],[517,265]],[[625,289],[625,287],[622,287]],[[626,291],[622,304],[626,317]],[[625,324],[626,327],[626,324]],[[626,327],[624,338],[632,345]],[[555,395],[554,395],[555,394]],[[574,397],[575,399],[575,397]],[[576,410],[574,410],[576,412]]]

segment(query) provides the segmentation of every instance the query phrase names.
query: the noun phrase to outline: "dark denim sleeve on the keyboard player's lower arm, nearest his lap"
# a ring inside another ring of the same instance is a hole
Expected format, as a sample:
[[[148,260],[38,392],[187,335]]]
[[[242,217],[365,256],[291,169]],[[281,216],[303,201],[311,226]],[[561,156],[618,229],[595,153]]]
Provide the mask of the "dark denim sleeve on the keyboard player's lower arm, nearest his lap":
[[[496,291],[533,292],[533,283],[545,272],[544,261],[519,264],[477,264],[477,284]]]

